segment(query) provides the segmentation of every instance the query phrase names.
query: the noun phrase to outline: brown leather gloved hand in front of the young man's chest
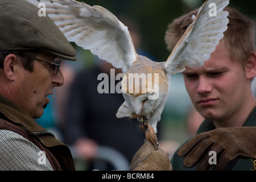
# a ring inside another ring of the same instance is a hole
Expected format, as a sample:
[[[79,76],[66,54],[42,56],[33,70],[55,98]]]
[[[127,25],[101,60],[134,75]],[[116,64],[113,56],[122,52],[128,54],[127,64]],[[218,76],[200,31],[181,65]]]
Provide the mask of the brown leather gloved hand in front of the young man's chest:
[[[217,163],[213,170],[222,170],[235,158],[256,160],[256,127],[219,128],[196,135],[177,152],[185,157],[183,164],[191,168],[200,162],[196,170],[208,170],[210,151],[216,151]]]

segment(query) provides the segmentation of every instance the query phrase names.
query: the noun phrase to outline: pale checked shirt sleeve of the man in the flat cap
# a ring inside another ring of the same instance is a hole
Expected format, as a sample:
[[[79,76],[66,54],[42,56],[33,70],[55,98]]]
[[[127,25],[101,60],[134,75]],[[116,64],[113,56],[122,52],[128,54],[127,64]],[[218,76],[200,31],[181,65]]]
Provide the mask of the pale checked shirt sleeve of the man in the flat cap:
[[[52,171],[46,155],[13,131],[0,130],[0,171]]]

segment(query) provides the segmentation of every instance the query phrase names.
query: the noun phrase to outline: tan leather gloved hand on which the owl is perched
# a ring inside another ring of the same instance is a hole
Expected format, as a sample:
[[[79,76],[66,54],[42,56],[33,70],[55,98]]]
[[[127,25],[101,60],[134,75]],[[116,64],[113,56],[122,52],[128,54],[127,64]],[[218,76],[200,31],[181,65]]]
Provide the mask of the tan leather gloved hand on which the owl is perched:
[[[168,154],[158,147],[155,133],[153,134],[146,131],[144,144],[131,160],[130,171],[172,171]]]

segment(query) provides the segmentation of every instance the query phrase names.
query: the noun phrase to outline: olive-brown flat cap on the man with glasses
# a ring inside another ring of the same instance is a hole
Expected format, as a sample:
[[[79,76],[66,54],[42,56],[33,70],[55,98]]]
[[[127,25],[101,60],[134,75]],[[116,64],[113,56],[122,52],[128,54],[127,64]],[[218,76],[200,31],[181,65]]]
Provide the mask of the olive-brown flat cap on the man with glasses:
[[[24,0],[0,1],[0,50],[32,50],[76,60],[76,51],[49,16]]]

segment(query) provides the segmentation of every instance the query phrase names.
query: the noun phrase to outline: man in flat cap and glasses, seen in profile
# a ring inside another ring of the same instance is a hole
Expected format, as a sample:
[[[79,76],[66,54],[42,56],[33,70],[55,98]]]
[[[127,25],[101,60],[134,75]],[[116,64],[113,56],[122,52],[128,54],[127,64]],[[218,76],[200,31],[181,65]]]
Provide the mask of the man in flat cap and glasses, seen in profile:
[[[33,118],[64,84],[60,57],[75,49],[48,16],[23,0],[0,2],[0,170],[74,170],[69,148]]]

